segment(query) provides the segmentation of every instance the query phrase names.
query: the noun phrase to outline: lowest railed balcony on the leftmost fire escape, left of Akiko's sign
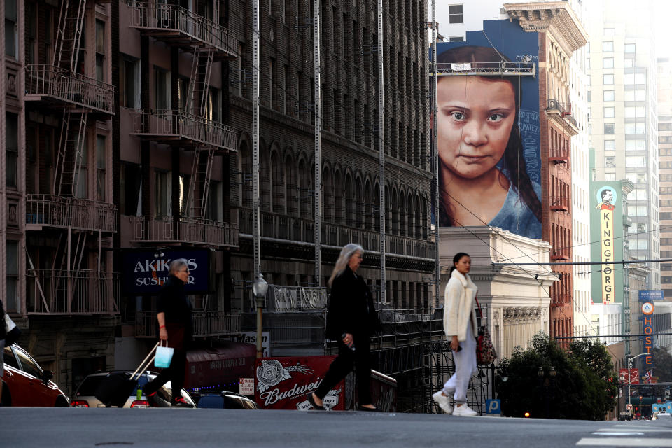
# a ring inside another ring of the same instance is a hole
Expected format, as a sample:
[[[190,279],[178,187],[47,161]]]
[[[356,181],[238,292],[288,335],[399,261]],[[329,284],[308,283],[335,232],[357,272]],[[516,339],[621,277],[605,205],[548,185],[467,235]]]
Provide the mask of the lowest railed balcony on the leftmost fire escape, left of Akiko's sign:
[[[26,274],[28,314],[118,314],[120,276],[111,272],[30,269]]]

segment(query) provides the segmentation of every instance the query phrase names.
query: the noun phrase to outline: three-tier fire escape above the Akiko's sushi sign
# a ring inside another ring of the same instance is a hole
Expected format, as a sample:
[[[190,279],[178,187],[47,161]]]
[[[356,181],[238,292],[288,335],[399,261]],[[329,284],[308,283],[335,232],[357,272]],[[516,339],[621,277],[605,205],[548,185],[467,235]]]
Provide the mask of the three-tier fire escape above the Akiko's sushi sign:
[[[218,19],[218,1],[214,18]],[[173,4],[136,1],[131,26],[144,36],[175,45],[192,55],[186,102],[181,109],[132,111],[132,134],[160,144],[194,151],[183,210],[174,216],[134,218],[139,244],[186,243],[237,247],[238,226],[208,219],[208,193],[214,158],[237,150],[237,131],[209,117],[209,84],[214,62],[237,57],[237,39],[191,10]]]

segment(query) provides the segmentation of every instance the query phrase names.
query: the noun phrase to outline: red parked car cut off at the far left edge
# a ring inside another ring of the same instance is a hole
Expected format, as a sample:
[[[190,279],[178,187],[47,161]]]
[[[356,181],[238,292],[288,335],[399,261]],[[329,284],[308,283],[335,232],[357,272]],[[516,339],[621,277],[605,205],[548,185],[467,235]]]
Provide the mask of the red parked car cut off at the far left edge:
[[[70,402],[61,389],[50,381],[51,370],[42,367],[17,344],[3,351],[5,372],[2,376],[3,406],[60,406]]]

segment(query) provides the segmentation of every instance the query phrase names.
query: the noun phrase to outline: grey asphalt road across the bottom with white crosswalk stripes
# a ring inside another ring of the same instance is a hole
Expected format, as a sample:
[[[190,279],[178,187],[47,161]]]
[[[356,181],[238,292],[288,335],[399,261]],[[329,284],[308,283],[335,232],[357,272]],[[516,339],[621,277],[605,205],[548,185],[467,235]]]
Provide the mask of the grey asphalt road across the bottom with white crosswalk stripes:
[[[669,421],[0,407],[0,447],[672,447]]]

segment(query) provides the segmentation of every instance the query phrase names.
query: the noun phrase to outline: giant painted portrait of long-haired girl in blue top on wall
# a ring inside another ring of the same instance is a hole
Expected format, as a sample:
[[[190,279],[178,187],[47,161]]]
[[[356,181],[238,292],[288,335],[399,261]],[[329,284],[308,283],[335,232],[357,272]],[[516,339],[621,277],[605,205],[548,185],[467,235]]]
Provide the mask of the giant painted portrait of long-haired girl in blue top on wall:
[[[510,62],[494,48],[465,45],[438,64]],[[442,226],[491,225],[541,237],[541,187],[530,180],[518,125],[519,76],[437,79],[437,148]]]

